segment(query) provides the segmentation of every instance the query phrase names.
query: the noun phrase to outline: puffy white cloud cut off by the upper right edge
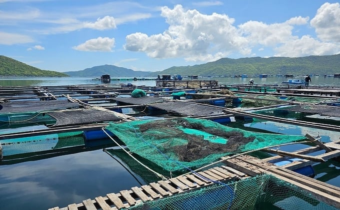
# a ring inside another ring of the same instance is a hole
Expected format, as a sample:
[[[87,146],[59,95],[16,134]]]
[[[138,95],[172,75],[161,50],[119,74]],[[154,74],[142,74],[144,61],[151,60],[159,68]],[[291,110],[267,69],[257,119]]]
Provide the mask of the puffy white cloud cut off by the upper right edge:
[[[321,5],[310,25],[321,40],[340,42],[340,4],[327,2]]]

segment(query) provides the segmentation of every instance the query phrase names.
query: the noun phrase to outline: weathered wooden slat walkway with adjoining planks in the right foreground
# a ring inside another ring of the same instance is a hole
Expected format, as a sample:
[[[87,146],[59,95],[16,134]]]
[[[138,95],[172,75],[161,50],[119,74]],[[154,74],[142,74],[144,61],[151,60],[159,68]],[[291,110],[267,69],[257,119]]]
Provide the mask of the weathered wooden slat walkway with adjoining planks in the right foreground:
[[[322,149],[329,152],[318,155],[315,158],[328,160],[340,157],[340,141],[324,144],[324,146],[310,147],[304,150],[296,151],[296,154],[307,154]],[[288,170],[287,168],[303,167],[311,165],[314,162],[302,160],[301,162],[293,162],[283,167],[276,166],[268,161],[284,159],[287,157],[274,156],[265,160],[243,155],[231,159],[225,158],[225,166],[214,167],[205,171],[197,172],[197,174],[188,174],[178,176],[166,181],[158,181],[141,187],[133,187],[130,190],[123,190],[118,193],[106,194],[106,196],[98,196],[94,200],[87,199],[80,204],[70,204],[64,208],[54,207],[49,210],[119,210],[138,205],[142,202],[162,199],[174,194],[180,194],[198,188],[204,188],[212,185],[213,181],[227,182],[246,179],[248,177],[270,174],[280,180],[291,183],[299,187],[301,190],[308,192],[313,198],[328,204],[334,208],[340,209],[340,188],[314,180]],[[206,179],[204,179],[205,177]]]

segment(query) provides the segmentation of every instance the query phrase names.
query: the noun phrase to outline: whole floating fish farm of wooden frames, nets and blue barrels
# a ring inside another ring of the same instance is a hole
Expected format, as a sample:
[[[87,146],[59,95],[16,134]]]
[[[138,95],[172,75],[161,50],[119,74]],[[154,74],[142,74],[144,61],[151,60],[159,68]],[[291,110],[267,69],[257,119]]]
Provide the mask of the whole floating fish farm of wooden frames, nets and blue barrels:
[[[339,113],[340,87],[1,86],[0,165],[101,149],[143,180],[49,210],[337,210]]]

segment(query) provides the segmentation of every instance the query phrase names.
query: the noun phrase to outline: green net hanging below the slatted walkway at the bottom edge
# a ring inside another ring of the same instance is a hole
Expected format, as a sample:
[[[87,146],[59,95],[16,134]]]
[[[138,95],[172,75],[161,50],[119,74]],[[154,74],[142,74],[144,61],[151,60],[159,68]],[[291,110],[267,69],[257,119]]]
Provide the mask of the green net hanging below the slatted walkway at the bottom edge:
[[[263,174],[139,203],[129,210],[336,210],[295,185]]]

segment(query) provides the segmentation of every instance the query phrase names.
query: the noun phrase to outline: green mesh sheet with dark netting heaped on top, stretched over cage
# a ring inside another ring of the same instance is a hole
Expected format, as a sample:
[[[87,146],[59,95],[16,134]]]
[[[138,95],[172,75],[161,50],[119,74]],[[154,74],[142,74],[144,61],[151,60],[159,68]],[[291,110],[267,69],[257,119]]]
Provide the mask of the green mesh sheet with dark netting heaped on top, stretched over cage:
[[[249,132],[192,118],[110,123],[106,128],[131,152],[166,171],[200,167],[222,156],[305,139]]]

